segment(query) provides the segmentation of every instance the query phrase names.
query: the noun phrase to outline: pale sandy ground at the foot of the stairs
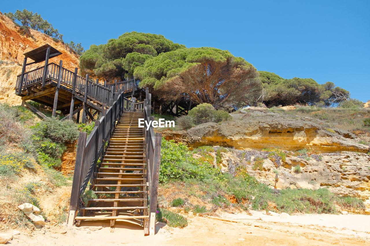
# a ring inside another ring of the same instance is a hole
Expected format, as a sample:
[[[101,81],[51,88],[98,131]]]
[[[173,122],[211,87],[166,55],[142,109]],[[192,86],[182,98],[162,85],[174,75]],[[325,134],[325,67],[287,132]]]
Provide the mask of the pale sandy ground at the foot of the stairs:
[[[157,223],[157,233],[144,236],[140,225],[116,222],[110,232],[108,221],[82,222],[80,227],[36,229],[21,232],[11,245],[368,245],[369,215],[294,215],[288,218],[252,211],[221,214],[220,217],[188,216],[185,228]],[[257,220],[261,218],[262,220]],[[224,221],[222,221],[224,220]]]

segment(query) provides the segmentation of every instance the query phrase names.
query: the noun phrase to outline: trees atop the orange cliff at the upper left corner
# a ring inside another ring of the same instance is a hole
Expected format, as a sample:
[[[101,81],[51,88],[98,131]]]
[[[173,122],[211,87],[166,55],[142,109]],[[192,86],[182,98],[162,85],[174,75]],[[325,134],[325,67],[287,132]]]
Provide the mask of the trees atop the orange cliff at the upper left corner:
[[[43,31],[44,34],[62,40],[63,35],[58,33],[57,29],[54,29],[53,25],[44,20],[39,14],[32,13],[24,9],[23,11],[17,10],[16,13],[4,13],[9,17],[13,22],[16,20],[20,21],[22,26],[30,27],[36,31]]]

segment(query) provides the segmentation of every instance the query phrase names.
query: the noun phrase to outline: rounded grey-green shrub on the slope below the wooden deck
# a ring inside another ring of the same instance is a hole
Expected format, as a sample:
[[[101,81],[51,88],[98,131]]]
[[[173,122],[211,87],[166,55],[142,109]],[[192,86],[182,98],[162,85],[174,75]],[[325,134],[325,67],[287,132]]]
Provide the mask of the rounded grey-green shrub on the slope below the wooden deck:
[[[49,138],[57,143],[73,143],[78,139],[78,127],[72,120],[60,121],[47,118],[33,127],[36,136]]]

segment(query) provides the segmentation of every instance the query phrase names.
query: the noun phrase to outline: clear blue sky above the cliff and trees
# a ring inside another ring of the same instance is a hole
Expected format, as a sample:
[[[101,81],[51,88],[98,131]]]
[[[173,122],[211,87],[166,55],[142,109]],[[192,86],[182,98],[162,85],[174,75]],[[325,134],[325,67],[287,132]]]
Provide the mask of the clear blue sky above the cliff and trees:
[[[283,78],[334,82],[370,100],[370,0],[3,1],[33,11],[66,42],[105,44],[125,32],[216,47]]]

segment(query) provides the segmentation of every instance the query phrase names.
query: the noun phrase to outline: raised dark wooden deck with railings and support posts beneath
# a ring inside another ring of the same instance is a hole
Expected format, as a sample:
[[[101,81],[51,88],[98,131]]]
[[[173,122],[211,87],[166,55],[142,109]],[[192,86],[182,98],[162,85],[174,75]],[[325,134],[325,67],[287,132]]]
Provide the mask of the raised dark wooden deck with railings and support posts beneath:
[[[46,68],[46,72],[45,72]],[[76,113],[82,112],[82,122],[88,118],[94,120],[103,107],[109,107],[122,92],[124,96],[139,98],[141,89],[135,78],[128,81],[114,81],[101,85],[98,80],[89,80],[88,75],[82,77],[75,71],[63,68],[60,64],[49,63],[47,66],[33,69],[18,76],[16,94],[23,101],[33,100],[53,108],[53,116],[60,110],[65,119],[72,119]],[[79,117],[77,117],[79,118]]]

